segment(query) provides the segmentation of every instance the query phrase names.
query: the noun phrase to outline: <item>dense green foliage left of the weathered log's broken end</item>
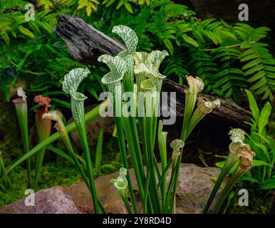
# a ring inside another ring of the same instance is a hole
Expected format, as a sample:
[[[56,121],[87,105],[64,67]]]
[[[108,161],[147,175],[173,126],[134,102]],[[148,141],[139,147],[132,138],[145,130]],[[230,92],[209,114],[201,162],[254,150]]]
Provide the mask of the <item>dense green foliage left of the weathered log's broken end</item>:
[[[0,1],[0,86],[6,100],[10,89],[23,80],[28,95],[42,94],[51,97],[51,109],[71,108],[68,95],[63,93],[61,82],[71,68],[84,65],[73,61],[66,53],[66,46],[58,38],[55,26],[58,14],[73,14],[74,1],[37,1],[34,21],[26,21],[24,6],[27,1]],[[2,23],[3,21],[3,23]],[[81,92],[98,100],[98,93],[104,90],[100,83],[101,68],[90,66],[93,72],[88,76]],[[95,86],[100,84],[101,86]],[[34,110],[34,105],[31,110]]]

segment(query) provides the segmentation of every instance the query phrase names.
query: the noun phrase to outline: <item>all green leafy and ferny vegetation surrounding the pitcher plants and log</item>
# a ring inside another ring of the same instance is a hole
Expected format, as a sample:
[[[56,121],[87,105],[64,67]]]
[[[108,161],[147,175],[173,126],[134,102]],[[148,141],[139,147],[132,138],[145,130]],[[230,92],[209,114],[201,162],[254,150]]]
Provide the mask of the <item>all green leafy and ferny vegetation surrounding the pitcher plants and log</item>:
[[[28,3],[35,5],[35,21],[24,18]],[[206,85],[204,93],[232,98],[239,105],[247,105],[247,89],[254,119],[247,140],[259,162],[242,180],[255,190],[260,187],[264,195],[274,192],[275,60],[269,51],[269,28],[228,24],[223,19],[202,20],[187,6],[170,0],[0,0],[0,87],[7,102],[13,88],[24,84],[30,98],[37,94],[51,97],[51,109],[66,114],[71,108],[61,83],[65,73],[83,64],[67,55],[65,44],[57,36],[58,14],[81,17],[110,36],[115,25],[130,26],[137,33],[142,50],[169,51],[170,57],[163,61],[161,71],[177,83],[185,83],[186,75],[199,76]],[[98,94],[105,90],[100,80],[106,70],[98,66],[88,68],[91,73],[80,92],[89,94],[89,102],[96,103]],[[29,115],[33,116],[37,105],[31,103],[29,107]],[[0,128],[4,128],[1,123]],[[1,142],[0,149],[9,150],[9,155],[5,155],[9,158],[7,164],[16,158],[11,145]],[[21,178],[20,172],[15,178]],[[0,204],[8,202],[11,201]]]

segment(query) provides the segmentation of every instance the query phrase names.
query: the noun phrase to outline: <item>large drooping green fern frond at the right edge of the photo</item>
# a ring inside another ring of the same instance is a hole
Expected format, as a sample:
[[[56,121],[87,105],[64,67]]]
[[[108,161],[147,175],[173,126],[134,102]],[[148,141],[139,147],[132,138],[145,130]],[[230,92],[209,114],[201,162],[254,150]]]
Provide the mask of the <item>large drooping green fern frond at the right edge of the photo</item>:
[[[266,27],[252,28],[247,24],[237,24],[234,28],[239,37],[243,40],[241,48],[244,50],[240,56],[244,63],[242,70],[247,76],[247,82],[251,84],[250,90],[262,99],[273,100],[275,90],[275,59],[266,48],[266,43],[259,40],[267,36],[270,30]]]

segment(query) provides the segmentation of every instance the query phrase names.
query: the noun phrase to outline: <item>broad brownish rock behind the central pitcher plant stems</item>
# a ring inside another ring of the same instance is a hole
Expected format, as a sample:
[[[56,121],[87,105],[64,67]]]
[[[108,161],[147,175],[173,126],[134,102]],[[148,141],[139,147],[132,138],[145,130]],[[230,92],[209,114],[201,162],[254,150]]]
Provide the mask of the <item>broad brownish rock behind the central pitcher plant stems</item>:
[[[214,187],[212,177],[217,177],[219,170],[217,167],[199,167],[194,164],[182,163],[176,192],[176,212],[180,214],[201,212]],[[133,169],[130,170],[130,175],[133,189],[136,190],[137,207],[142,212]],[[125,207],[121,207],[121,205],[124,205],[123,201],[113,184],[109,182],[109,180],[117,177],[118,172],[105,175],[95,180],[95,185],[100,202],[105,207],[106,212],[123,214],[127,213]],[[170,180],[170,172],[167,174],[167,180]],[[65,187],[64,192],[71,195],[73,202],[75,202],[81,213],[93,213],[93,202],[84,182]]]

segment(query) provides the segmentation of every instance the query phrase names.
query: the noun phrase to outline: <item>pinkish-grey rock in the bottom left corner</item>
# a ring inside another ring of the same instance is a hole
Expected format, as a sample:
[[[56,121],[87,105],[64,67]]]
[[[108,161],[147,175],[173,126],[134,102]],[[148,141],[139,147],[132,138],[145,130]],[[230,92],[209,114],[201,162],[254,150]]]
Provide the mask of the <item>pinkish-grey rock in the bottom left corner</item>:
[[[35,193],[34,206],[26,206],[25,199],[0,208],[0,214],[79,214],[76,205],[63,187],[53,187]]]

